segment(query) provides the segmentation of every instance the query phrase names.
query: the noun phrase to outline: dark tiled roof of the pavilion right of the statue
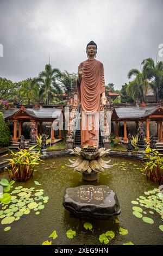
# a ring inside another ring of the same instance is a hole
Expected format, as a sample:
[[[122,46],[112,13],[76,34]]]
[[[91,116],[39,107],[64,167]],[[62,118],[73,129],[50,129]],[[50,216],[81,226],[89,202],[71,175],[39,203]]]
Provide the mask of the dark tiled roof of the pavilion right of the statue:
[[[158,109],[157,107],[115,107],[118,118],[148,117]]]

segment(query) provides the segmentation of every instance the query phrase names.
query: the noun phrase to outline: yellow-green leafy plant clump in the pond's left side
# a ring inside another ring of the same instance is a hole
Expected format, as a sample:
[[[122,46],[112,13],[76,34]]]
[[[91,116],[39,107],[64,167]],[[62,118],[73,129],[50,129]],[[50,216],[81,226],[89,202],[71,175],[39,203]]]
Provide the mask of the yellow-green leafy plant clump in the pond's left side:
[[[12,152],[12,159],[9,160],[8,174],[10,180],[26,181],[33,176],[35,166],[40,161],[40,151],[29,151],[27,149],[21,149],[18,152]]]

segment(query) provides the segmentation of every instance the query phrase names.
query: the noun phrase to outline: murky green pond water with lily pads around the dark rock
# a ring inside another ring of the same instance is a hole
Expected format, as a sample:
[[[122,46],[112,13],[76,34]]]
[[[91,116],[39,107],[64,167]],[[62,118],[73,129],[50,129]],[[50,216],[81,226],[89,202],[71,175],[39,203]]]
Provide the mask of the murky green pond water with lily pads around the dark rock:
[[[156,188],[159,186],[147,180],[141,173],[141,161],[111,157],[110,164],[113,166],[99,173],[97,181],[91,182],[92,185],[107,185],[117,193],[121,214],[107,221],[80,220],[70,216],[64,209],[62,198],[66,188],[90,184],[82,180],[81,173],[74,172],[65,164],[69,164],[68,157],[45,160],[37,166],[33,179],[15,182],[11,190],[12,203],[0,205],[1,245],[41,245],[47,240],[52,241],[52,245],[101,245],[99,235],[108,230],[115,233],[114,239],[110,240],[108,245],[122,245],[128,242],[133,242],[134,245],[163,244],[163,203],[156,202],[152,208],[148,204],[150,200],[156,200]],[[8,178],[8,174],[1,173],[0,180],[2,178]],[[41,185],[36,185],[34,181]],[[133,209],[137,206],[139,209]],[[139,217],[133,214],[135,211],[139,212],[136,214]],[[144,217],[152,219],[152,224],[143,221]],[[10,220],[9,223],[5,223],[4,218]],[[92,224],[92,230],[84,228],[85,222]],[[4,231],[6,227],[11,228]],[[120,234],[120,227],[127,229],[128,234]],[[66,236],[69,229],[76,231],[73,239]],[[49,238],[54,230],[58,235],[55,240]]]

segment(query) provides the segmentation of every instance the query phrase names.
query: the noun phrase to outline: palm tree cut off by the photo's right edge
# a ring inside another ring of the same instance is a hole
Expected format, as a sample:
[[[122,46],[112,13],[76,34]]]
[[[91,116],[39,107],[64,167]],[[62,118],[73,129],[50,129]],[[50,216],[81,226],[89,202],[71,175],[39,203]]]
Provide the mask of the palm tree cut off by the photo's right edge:
[[[156,94],[157,102],[159,102],[159,90],[161,86],[162,74],[163,74],[163,62],[154,63],[152,58],[144,59],[141,63],[143,69],[149,80],[151,80],[151,87]]]

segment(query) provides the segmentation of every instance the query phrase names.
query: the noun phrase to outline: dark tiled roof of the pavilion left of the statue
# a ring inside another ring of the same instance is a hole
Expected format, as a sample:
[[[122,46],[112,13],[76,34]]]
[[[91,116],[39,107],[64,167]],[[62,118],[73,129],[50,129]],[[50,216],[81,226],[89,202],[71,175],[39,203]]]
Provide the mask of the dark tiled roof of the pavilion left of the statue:
[[[20,111],[18,108],[8,109],[4,112],[4,118],[9,118],[11,115],[15,114],[17,111]],[[60,108],[40,108],[40,109],[24,109],[24,112],[31,115],[34,118],[40,119],[55,119],[58,118],[62,109]]]

